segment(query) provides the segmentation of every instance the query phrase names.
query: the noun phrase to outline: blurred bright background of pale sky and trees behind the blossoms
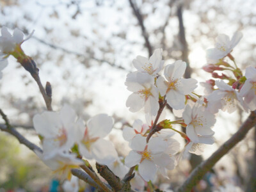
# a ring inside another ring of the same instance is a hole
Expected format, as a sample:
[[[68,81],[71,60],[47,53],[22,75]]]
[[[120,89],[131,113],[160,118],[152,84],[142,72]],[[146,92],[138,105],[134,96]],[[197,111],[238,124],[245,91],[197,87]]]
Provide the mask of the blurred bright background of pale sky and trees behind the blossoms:
[[[122,140],[124,125],[131,125],[136,118],[145,122],[143,111],[131,113],[125,106],[131,94],[125,88],[125,77],[135,70],[132,60],[136,56],[148,57],[154,49],[162,48],[165,65],[186,61],[189,68],[185,76],[205,81],[211,78],[202,70],[205,49],[214,46],[218,34],[231,37],[239,30],[244,36],[232,55],[242,70],[255,67],[253,0],[0,0],[0,10],[0,28],[19,28],[26,35],[35,29],[22,49],[36,61],[42,83],[52,84],[54,111],[68,103],[84,120],[98,113],[113,116],[115,125],[109,140],[120,156],[129,152]],[[44,100],[28,72],[15,59],[8,60],[0,81],[0,108],[13,126],[39,145],[31,120],[45,110]],[[195,92],[203,94],[202,87]],[[241,109],[231,115],[219,113],[213,127],[216,143],[205,147],[203,156],[184,159],[169,173],[170,180],[160,177],[154,182],[179,186],[196,164],[236,132],[246,116]],[[166,118],[175,117],[167,111]],[[184,145],[179,136],[177,139]],[[256,190],[250,188],[256,182],[255,141],[252,130],[195,190],[212,191],[227,184],[241,191]],[[0,164],[0,191],[49,191],[54,181],[51,170],[33,152],[4,132],[0,132]]]

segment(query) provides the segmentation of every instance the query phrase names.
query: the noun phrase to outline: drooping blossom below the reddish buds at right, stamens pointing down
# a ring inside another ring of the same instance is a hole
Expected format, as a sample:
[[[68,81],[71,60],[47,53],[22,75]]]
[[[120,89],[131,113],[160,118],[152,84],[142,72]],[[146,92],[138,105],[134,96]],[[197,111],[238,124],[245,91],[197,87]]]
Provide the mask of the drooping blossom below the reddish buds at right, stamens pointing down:
[[[241,106],[244,111],[248,111],[243,98],[239,95],[237,90],[222,80],[216,81],[215,84],[219,89],[214,90],[214,92],[206,97],[208,100],[207,109],[209,109],[211,113],[217,113],[218,109],[233,113],[237,109],[237,104]]]

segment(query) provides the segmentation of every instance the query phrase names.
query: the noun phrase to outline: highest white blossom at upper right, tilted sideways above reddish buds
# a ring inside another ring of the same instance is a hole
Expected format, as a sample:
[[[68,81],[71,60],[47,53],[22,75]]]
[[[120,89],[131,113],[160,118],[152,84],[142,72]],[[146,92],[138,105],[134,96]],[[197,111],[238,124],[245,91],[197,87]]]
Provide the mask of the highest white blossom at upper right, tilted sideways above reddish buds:
[[[239,31],[234,33],[231,40],[229,36],[225,34],[218,35],[216,38],[215,47],[207,49],[208,63],[218,63],[220,59],[227,56],[227,54],[230,53],[234,47],[236,47],[242,37],[243,34]]]

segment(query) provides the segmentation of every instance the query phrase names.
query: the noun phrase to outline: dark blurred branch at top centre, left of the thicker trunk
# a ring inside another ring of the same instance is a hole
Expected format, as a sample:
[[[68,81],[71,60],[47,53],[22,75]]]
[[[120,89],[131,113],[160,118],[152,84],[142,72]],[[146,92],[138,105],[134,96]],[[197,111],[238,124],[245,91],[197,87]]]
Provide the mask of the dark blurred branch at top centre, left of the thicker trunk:
[[[140,13],[140,9],[136,6],[136,3],[133,3],[132,0],[129,0],[129,3],[131,5],[131,8],[133,10],[134,15],[138,19],[138,22],[139,22],[139,25],[140,25],[140,28],[141,28],[141,32],[142,32],[142,36],[145,40],[145,45],[148,49],[148,57],[150,57],[153,53],[152,52],[152,45],[149,42],[148,33],[147,33],[147,31],[145,29],[145,26],[144,26],[143,16]]]

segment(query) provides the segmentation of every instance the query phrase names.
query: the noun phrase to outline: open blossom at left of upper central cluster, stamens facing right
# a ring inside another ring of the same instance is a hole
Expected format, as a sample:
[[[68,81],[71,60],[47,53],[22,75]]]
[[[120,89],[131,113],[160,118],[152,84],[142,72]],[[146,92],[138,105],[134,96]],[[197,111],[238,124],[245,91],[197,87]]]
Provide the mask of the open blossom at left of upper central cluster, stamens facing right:
[[[154,77],[134,72],[127,75],[125,82],[127,90],[133,92],[126,101],[126,106],[131,112],[137,112],[145,107],[145,113],[156,115],[159,109],[159,93],[154,86]]]

